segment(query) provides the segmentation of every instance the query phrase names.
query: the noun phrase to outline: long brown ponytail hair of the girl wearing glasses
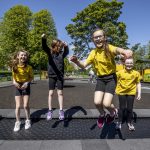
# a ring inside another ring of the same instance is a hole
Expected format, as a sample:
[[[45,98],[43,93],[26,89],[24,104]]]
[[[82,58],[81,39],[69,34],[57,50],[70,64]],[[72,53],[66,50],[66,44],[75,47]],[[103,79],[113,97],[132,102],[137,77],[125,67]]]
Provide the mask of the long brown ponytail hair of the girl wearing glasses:
[[[103,33],[103,36],[105,38],[105,43],[103,45],[103,48],[105,50],[105,55],[106,57],[110,58],[111,57],[111,53],[110,53],[110,50],[109,50],[109,47],[108,47],[108,42],[107,42],[107,36],[106,36],[106,33],[104,32],[104,30],[100,29],[100,28],[96,28],[94,31],[93,31],[93,34],[96,32],[96,31],[102,31]],[[92,34],[92,37],[93,37],[93,34]]]

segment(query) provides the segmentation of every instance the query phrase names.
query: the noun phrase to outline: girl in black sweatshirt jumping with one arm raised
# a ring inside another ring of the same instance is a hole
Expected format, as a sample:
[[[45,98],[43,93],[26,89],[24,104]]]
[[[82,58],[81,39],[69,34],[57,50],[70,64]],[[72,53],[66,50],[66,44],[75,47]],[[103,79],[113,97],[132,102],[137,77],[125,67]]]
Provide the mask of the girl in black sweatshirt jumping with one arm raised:
[[[46,35],[42,34],[42,47],[48,56],[48,77],[49,77],[49,97],[47,120],[52,119],[52,98],[54,89],[57,85],[57,95],[59,101],[59,119],[64,120],[63,111],[63,84],[64,84],[64,58],[69,53],[66,42],[55,39],[52,41],[50,48],[47,46]]]

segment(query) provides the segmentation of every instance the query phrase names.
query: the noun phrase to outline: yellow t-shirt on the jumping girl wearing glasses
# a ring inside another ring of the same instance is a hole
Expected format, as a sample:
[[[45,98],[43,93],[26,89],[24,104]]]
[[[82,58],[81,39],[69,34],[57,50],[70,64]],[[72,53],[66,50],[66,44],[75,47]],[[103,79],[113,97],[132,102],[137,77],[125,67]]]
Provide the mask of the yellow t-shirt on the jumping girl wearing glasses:
[[[105,55],[103,48],[93,49],[88,58],[86,59],[87,64],[92,64],[97,76],[109,75],[116,72],[116,64],[114,57],[116,55],[117,47],[108,44],[110,50],[110,58]]]

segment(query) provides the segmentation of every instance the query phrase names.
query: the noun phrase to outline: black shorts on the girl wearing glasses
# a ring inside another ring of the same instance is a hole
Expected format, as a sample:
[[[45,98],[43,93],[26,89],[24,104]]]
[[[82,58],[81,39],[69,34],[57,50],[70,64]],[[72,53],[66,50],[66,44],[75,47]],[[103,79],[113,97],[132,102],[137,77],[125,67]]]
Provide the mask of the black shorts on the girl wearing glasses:
[[[115,93],[116,89],[116,74],[111,74],[107,76],[97,77],[97,84],[95,91],[102,91],[106,93]]]

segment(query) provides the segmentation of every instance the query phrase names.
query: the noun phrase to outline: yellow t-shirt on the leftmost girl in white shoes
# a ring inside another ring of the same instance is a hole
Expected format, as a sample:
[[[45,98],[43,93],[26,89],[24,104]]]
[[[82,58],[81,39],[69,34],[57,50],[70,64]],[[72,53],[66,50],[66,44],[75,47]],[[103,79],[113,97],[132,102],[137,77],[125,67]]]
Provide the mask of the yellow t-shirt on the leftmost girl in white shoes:
[[[24,83],[28,82],[33,79],[33,70],[30,65],[24,66],[17,66],[17,71],[12,71],[12,76],[16,82]]]

